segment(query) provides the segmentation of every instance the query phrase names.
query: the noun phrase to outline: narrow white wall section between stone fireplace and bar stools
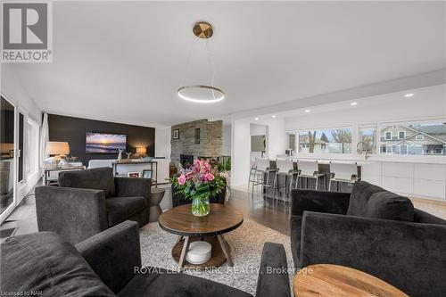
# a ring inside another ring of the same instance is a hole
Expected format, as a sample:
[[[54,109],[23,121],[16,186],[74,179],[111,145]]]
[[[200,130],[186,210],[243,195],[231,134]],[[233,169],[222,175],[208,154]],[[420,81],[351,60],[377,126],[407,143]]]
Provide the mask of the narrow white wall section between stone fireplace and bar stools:
[[[244,186],[248,184],[251,151],[250,134],[249,121],[234,120],[232,122],[231,186]]]

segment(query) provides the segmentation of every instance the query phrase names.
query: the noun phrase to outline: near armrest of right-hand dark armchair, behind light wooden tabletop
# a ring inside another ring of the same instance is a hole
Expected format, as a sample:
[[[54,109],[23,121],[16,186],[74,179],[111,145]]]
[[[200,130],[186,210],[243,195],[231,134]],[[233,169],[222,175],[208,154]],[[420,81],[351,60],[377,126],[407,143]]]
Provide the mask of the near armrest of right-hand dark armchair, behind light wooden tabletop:
[[[357,268],[410,296],[446,292],[446,225],[305,212],[301,263]]]

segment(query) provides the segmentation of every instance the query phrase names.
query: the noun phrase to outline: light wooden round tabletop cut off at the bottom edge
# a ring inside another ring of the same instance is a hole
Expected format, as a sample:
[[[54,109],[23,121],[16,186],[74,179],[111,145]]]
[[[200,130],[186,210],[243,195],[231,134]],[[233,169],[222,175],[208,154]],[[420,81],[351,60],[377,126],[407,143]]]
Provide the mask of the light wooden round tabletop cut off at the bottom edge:
[[[295,297],[409,297],[369,274],[340,265],[317,264],[301,269],[293,280]]]

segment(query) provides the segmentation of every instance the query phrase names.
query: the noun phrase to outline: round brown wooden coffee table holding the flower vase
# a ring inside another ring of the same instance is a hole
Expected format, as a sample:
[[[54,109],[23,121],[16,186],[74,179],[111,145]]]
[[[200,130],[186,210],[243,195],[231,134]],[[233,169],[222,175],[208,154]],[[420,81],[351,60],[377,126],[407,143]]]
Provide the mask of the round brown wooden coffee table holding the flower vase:
[[[191,205],[182,205],[164,211],[159,219],[160,227],[169,233],[178,235],[177,243],[172,248],[172,257],[179,268],[218,267],[227,261],[233,266],[229,244],[224,234],[234,230],[244,222],[244,214],[231,206],[211,203],[211,211],[205,217],[195,217]],[[189,244],[204,240],[211,243],[211,260],[195,265],[186,262]]]

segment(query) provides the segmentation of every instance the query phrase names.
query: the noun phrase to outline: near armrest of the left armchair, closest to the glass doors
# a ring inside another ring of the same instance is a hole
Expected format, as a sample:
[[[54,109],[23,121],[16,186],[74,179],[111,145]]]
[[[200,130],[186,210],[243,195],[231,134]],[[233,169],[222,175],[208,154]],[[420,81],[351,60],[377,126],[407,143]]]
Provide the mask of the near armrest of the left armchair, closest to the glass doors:
[[[102,190],[59,186],[36,188],[37,227],[78,243],[108,227]]]

